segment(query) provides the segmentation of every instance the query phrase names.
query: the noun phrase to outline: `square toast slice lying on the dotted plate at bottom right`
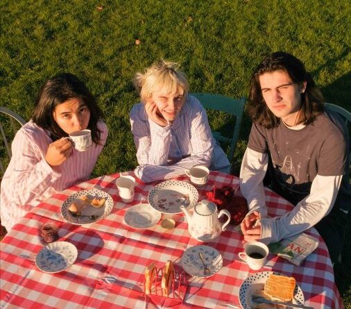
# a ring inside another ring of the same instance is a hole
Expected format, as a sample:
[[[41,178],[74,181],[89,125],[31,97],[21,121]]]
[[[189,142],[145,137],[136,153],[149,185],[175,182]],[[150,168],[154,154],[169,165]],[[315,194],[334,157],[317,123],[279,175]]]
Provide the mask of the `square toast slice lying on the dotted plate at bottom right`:
[[[291,301],[295,287],[295,278],[271,274],[264,283],[264,292],[272,299]]]

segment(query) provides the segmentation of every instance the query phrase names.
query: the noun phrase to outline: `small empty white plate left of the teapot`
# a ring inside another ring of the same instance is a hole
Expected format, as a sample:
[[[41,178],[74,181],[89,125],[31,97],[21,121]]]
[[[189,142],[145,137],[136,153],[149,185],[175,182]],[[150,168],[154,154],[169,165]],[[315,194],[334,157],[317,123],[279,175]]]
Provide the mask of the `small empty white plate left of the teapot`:
[[[161,212],[151,208],[149,204],[137,204],[128,208],[124,222],[132,228],[151,228],[161,219]]]

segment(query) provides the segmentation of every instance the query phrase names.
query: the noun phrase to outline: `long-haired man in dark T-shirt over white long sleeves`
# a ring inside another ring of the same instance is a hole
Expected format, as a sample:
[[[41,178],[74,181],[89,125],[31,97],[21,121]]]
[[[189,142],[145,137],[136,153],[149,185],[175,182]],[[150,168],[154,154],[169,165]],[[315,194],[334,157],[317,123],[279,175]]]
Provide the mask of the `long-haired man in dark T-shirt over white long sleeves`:
[[[253,123],[240,172],[249,208],[244,239],[268,244],[315,226],[338,260],[351,204],[346,128],[325,112],[313,78],[289,53],[272,53],[259,64],[248,101]],[[281,217],[267,217],[267,171],[271,189],[295,206]]]

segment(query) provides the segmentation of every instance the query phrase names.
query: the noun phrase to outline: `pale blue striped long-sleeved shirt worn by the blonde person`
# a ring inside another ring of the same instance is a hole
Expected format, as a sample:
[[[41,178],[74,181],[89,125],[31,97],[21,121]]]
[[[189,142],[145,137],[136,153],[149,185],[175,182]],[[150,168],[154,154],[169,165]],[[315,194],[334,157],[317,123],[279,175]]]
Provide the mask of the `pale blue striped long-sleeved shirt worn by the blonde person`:
[[[143,103],[133,106],[130,124],[139,162],[135,174],[146,183],[182,175],[194,165],[230,172],[228,158],[212,137],[205,109],[195,97],[187,95],[169,126],[148,119]]]

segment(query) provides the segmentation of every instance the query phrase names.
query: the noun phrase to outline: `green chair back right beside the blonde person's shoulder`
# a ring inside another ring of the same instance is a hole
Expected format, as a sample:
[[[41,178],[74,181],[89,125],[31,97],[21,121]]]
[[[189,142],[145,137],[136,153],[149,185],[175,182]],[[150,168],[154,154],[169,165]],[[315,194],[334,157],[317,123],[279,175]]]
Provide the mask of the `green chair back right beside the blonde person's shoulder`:
[[[196,97],[205,109],[226,112],[229,115],[234,115],[236,118],[234,131],[231,138],[223,136],[218,131],[212,131],[212,135],[218,142],[227,142],[230,144],[227,157],[229,162],[232,162],[235,147],[237,146],[239,138],[241,120],[243,118],[243,109],[245,107],[246,99],[232,99],[224,97],[221,94],[191,93],[191,95]]]

